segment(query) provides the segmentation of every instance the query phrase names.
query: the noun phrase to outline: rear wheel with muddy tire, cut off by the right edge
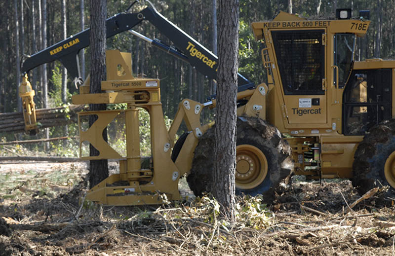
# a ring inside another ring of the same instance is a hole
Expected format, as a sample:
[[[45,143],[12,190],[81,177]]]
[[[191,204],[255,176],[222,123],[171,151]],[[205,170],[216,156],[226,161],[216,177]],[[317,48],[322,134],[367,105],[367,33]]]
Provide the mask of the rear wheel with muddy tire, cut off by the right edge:
[[[353,185],[362,195],[374,187],[390,186],[385,197],[395,197],[395,120],[369,130],[356,148]]]

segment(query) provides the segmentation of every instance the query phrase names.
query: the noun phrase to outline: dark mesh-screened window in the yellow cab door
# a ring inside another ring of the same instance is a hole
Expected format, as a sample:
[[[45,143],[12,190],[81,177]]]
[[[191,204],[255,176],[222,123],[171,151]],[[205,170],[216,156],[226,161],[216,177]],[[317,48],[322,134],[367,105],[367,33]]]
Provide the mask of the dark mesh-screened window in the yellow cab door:
[[[273,31],[278,67],[285,94],[324,94],[323,31]]]

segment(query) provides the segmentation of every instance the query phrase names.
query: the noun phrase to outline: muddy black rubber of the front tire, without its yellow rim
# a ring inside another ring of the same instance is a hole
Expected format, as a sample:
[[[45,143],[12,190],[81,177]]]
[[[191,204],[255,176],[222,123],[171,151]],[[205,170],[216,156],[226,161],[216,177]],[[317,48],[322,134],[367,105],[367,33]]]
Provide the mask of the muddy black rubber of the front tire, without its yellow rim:
[[[289,177],[293,170],[291,147],[281,138],[276,127],[256,117],[237,118],[237,145],[243,144],[256,146],[265,154],[268,174],[261,184],[252,189],[236,188],[236,194],[245,193],[253,196],[262,194],[265,202],[272,203],[281,181]],[[190,188],[197,196],[211,190],[213,155],[214,128],[211,128],[199,139],[192,169],[187,177]]]

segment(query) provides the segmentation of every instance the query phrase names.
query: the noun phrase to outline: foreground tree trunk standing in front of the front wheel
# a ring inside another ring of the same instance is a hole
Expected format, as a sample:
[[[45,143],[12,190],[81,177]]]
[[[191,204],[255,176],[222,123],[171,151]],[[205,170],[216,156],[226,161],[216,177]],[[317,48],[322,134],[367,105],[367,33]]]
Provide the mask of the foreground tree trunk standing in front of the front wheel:
[[[238,0],[219,0],[213,195],[235,220]]]

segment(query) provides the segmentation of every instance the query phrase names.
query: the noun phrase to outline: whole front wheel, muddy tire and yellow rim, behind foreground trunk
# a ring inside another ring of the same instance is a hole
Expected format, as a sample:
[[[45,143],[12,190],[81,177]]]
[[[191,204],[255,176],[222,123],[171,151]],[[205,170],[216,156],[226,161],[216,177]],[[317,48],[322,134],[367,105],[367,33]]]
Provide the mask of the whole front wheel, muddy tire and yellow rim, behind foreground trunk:
[[[236,194],[262,194],[265,202],[272,203],[276,189],[293,171],[291,147],[266,121],[238,117],[236,149]],[[187,177],[196,196],[211,191],[213,157],[214,127],[199,139]]]

